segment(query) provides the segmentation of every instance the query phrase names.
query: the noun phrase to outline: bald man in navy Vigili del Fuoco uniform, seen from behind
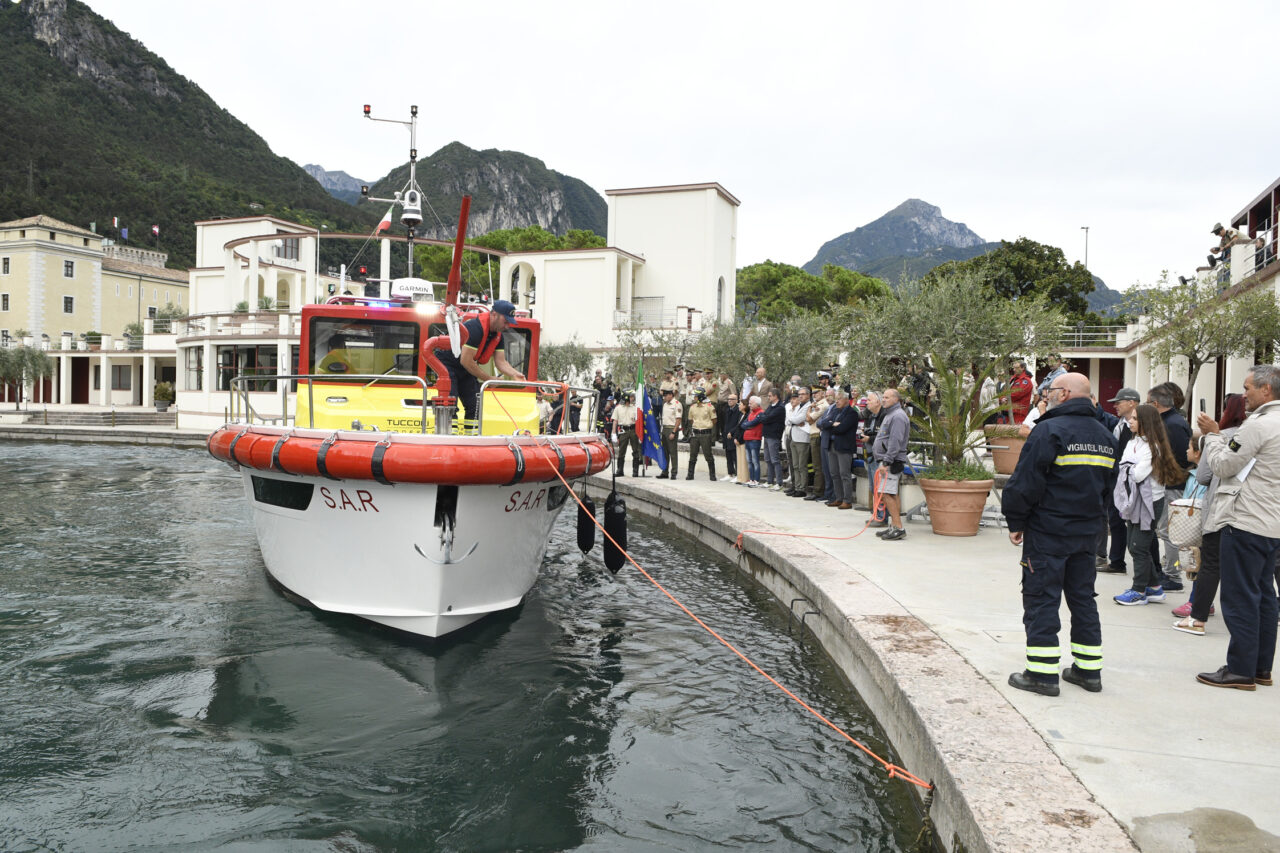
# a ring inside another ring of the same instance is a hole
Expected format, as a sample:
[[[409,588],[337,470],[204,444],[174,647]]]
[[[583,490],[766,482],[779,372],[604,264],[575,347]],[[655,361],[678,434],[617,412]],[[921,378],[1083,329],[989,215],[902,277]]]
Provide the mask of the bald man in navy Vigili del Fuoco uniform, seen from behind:
[[[1116,474],[1115,437],[1094,416],[1089,379],[1062,374],[1047,391],[1048,411],[1036,424],[1005,485],[1001,511],[1009,540],[1023,547],[1023,625],[1027,669],[1009,684],[1059,694],[1059,608],[1071,612],[1070,684],[1102,689],[1102,624],[1093,590],[1093,546],[1106,524]]]

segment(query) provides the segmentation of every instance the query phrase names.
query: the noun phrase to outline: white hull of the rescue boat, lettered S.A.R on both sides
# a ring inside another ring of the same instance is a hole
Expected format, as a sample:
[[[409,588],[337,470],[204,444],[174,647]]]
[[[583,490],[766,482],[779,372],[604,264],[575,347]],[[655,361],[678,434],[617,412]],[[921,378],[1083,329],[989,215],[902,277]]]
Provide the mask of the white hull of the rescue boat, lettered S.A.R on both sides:
[[[287,592],[422,637],[520,605],[568,502],[559,483],[242,476],[266,570]]]

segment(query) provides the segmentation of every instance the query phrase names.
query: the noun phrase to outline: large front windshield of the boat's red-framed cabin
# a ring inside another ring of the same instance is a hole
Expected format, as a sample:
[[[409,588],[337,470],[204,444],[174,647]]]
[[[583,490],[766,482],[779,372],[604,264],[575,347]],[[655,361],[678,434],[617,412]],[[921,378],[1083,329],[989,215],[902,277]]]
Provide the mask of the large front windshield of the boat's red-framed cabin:
[[[412,377],[417,374],[419,324],[317,316],[311,319],[311,371]]]

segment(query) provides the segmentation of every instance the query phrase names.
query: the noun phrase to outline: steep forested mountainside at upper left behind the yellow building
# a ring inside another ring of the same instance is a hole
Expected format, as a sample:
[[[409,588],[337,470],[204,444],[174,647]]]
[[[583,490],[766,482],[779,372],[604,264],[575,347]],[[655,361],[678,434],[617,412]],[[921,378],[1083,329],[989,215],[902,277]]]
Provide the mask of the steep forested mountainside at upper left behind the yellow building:
[[[197,219],[269,213],[364,231],[372,215],[77,0],[0,4],[0,222],[46,214],[104,232],[119,216],[131,243],[173,266],[195,263]]]

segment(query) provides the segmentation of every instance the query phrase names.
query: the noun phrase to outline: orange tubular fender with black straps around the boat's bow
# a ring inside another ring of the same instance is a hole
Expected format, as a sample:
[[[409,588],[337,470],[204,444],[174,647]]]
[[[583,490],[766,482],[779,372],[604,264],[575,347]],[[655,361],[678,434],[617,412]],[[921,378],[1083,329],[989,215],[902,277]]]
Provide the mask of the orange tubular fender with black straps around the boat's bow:
[[[214,459],[260,471],[445,485],[545,483],[557,479],[557,470],[573,479],[603,471],[613,460],[612,448],[599,437],[556,441],[559,453],[547,442],[545,438],[516,442],[517,455],[506,443],[387,443],[223,426],[210,434],[207,444]]]

